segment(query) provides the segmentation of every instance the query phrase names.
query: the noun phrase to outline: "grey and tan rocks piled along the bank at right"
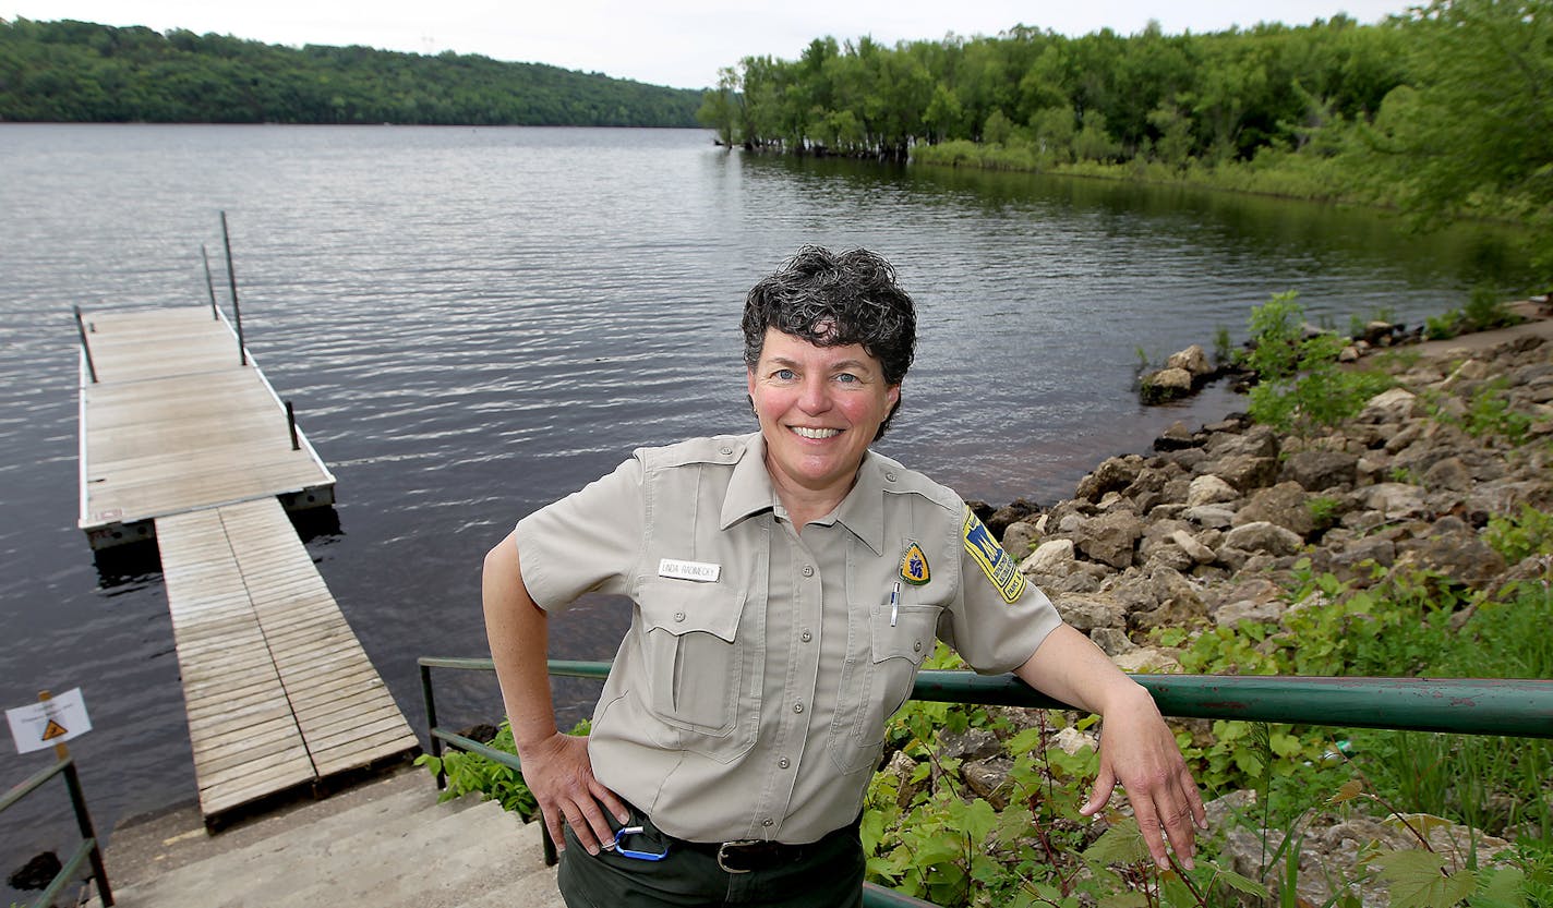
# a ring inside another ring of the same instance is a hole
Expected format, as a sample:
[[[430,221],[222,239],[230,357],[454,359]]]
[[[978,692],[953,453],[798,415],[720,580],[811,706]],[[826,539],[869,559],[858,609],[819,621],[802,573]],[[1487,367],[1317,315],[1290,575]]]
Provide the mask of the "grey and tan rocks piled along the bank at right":
[[[1522,326],[1405,348],[1390,366],[1396,386],[1320,438],[1281,436],[1239,414],[1199,430],[1176,424],[1154,452],[1103,461],[1051,508],[975,508],[1064,619],[1126,671],[1180,671],[1180,650],[1151,641],[1155,629],[1277,626],[1298,608],[1287,601],[1297,570],[1351,588],[1409,567],[1483,591],[1547,580],[1547,556],[1505,563],[1483,539],[1494,515],[1553,511],[1553,321],[1545,301],[1516,309]],[[1514,441],[1483,430],[1483,414],[1511,421]],[[1084,743],[1073,737],[1064,747]],[[991,799],[1002,756],[975,750],[961,754],[964,778]],[[1247,796],[1221,798],[1210,813],[1222,820]],[[1359,875],[1365,843],[1416,846],[1373,820],[1309,823],[1301,894],[1314,903],[1329,897],[1326,879]],[[1460,826],[1430,835],[1463,852],[1469,835],[1486,854],[1508,844]],[[1238,872],[1253,875],[1261,849],[1256,833],[1228,830]],[[1387,903],[1373,882],[1360,896]]]

